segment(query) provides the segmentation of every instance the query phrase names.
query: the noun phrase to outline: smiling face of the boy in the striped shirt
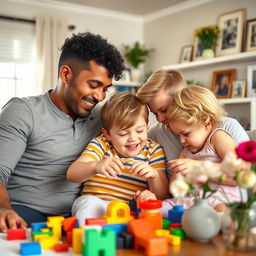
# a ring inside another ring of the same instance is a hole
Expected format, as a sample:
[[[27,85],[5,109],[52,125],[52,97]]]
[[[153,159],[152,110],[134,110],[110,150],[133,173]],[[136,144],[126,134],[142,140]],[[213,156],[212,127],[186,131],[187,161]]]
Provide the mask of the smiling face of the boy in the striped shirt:
[[[105,136],[112,142],[115,150],[124,157],[135,157],[146,145],[147,123],[140,115],[135,124],[127,129],[113,125],[109,131],[103,130]]]

